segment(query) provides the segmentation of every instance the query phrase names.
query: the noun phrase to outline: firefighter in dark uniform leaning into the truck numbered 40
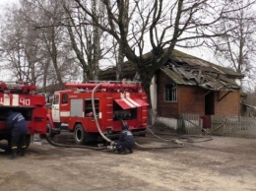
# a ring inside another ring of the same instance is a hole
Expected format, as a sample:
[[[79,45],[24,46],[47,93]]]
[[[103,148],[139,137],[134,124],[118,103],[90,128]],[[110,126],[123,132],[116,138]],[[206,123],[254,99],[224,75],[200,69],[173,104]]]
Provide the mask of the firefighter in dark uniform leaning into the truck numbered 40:
[[[24,116],[20,112],[10,111],[6,122],[11,133],[11,159],[16,159],[18,149],[21,149],[21,156],[25,156],[28,127]]]

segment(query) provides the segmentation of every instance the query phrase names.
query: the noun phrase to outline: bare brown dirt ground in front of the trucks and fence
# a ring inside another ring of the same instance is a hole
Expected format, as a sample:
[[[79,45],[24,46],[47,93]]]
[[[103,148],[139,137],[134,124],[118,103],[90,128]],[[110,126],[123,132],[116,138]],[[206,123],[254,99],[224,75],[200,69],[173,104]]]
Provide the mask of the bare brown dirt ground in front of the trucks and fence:
[[[137,146],[129,155],[57,148],[45,140],[32,143],[26,157],[0,153],[0,190],[256,190],[256,139],[179,139],[183,147],[152,135],[136,141],[144,149]]]

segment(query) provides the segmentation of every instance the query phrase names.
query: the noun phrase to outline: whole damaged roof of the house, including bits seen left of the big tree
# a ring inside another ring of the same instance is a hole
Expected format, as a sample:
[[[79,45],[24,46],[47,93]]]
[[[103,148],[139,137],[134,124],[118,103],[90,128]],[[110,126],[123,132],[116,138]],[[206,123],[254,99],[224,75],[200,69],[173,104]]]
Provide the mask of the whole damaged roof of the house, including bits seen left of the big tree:
[[[151,53],[143,56],[148,60]],[[147,61],[146,61],[147,63]],[[136,66],[131,62],[123,65],[123,76],[133,79],[136,74]],[[173,50],[168,61],[160,68],[177,85],[199,86],[212,91],[232,91],[240,89],[239,80],[244,75],[230,68],[213,64],[203,59]],[[100,80],[115,80],[116,67],[108,68],[100,72]]]

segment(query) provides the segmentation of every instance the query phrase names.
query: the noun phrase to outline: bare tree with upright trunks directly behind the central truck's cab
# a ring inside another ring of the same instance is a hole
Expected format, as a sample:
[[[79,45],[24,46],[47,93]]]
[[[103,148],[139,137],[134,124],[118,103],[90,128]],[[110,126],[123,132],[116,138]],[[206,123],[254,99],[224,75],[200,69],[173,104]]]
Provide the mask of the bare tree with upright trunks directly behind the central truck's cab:
[[[92,8],[98,13],[102,10],[102,4],[98,0],[92,0]],[[99,60],[102,58],[100,38],[102,32],[96,25],[79,25],[88,17],[80,8],[71,9],[71,2],[63,4],[68,16],[66,28],[69,32],[72,47],[77,55],[83,70],[83,80],[98,80]],[[99,18],[97,18],[99,20]]]

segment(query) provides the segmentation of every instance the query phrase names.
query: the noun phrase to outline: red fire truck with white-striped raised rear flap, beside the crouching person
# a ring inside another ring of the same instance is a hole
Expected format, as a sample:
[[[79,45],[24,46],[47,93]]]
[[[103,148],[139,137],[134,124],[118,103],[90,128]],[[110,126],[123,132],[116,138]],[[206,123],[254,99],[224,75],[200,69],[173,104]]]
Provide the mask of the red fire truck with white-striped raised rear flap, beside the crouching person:
[[[145,135],[147,117],[147,96],[139,83],[65,84],[65,90],[53,95],[46,135],[72,132],[83,145],[99,135],[117,137],[124,121],[134,135]]]

